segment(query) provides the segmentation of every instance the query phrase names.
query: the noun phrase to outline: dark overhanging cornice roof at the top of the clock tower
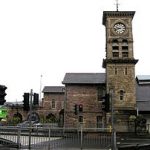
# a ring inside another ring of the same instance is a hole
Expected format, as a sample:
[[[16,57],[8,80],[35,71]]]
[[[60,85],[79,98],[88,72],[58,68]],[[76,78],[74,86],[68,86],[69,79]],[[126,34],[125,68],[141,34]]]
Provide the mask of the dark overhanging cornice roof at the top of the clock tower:
[[[104,11],[103,12],[103,25],[106,24],[107,17],[134,17],[135,11]]]

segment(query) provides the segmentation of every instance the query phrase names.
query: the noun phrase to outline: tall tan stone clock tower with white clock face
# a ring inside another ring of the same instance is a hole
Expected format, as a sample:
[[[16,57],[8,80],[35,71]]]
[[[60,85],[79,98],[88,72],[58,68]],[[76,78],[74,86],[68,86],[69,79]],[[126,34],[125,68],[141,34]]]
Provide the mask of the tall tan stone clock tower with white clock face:
[[[136,113],[135,65],[133,53],[132,19],[134,11],[104,11],[103,25],[106,27],[107,93],[113,91],[115,127],[127,130],[130,115]],[[122,128],[121,128],[122,127]]]

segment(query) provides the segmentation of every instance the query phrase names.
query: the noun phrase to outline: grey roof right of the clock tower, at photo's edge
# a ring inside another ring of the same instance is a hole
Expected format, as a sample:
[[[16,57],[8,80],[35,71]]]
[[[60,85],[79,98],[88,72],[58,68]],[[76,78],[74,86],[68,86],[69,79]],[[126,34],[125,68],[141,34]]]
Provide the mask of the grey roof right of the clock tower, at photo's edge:
[[[150,76],[136,77],[136,98],[139,111],[150,111]]]

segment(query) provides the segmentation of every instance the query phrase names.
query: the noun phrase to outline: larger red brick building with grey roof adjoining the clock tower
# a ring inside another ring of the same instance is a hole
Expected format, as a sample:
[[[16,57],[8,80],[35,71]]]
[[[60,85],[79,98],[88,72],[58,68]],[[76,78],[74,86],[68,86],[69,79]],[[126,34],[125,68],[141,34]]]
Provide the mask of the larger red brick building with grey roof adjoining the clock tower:
[[[64,127],[78,127],[81,123],[84,127],[102,127],[100,100],[106,91],[105,74],[66,73],[62,83],[65,84]]]

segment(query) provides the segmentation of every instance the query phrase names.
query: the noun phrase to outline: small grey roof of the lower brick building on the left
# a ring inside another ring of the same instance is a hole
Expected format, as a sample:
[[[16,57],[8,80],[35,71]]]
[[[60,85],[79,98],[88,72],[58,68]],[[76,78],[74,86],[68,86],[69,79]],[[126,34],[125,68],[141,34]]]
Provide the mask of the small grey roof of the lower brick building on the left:
[[[43,88],[43,93],[64,93],[64,86],[45,86]]]

